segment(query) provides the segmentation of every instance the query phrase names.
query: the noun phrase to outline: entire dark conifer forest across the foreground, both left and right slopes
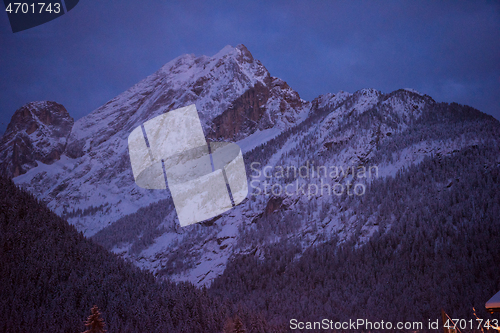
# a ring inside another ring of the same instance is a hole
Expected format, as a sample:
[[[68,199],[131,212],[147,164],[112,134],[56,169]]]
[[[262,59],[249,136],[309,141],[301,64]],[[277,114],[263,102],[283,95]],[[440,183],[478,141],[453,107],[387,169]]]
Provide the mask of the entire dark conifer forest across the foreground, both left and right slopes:
[[[500,289],[494,147],[376,180],[374,195],[352,203],[360,225],[371,210],[380,214],[365,244],[359,234],[305,251],[275,243],[261,249],[264,259],[234,257],[209,289],[158,281],[10,180],[0,185],[2,332],[83,331],[93,305],[108,332],[286,332],[291,318],[422,320],[441,308],[472,319],[475,307],[488,319],[484,303]]]

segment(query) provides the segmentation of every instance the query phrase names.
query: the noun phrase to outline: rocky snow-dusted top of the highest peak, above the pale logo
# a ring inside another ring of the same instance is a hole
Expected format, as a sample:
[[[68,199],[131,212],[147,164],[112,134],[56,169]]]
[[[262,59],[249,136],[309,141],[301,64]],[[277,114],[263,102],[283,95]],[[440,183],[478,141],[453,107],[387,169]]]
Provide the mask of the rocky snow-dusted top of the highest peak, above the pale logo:
[[[285,129],[308,106],[285,82],[270,76],[244,45],[226,46],[213,57],[177,57],[77,121],[67,154],[83,156],[113,136],[125,137],[148,119],[189,104],[196,104],[205,134],[215,139]]]

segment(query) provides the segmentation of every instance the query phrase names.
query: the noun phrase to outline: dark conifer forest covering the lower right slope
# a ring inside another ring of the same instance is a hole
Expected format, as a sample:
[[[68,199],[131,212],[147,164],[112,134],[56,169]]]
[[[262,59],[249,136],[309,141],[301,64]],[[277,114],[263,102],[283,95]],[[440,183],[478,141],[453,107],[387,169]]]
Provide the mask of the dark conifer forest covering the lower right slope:
[[[284,324],[291,318],[427,322],[440,318],[441,308],[475,322],[473,307],[480,318],[492,318],[484,305],[500,290],[497,146],[427,158],[343,205],[358,218],[351,240],[330,235],[304,252],[288,240],[261,248],[264,260],[237,256],[210,293]],[[377,231],[362,245],[369,218]]]

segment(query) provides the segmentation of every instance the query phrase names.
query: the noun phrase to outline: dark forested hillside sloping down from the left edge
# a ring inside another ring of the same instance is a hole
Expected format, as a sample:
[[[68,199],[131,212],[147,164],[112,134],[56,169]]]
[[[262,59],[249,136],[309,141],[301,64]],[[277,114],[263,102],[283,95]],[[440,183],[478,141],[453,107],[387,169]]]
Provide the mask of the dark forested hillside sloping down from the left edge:
[[[158,282],[4,177],[0,263],[0,332],[81,332],[94,304],[109,333],[222,332],[236,314],[256,323],[248,332],[280,332],[205,289]]]

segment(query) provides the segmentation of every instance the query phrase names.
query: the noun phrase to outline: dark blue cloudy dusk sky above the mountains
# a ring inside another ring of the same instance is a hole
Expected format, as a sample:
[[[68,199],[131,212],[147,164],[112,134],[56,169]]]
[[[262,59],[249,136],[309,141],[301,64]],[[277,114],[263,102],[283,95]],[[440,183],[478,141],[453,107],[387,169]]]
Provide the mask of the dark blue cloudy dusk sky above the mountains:
[[[306,100],[414,88],[500,119],[499,2],[80,0],[16,34],[0,15],[0,132],[24,103],[78,119],[173,58],[228,44]]]

